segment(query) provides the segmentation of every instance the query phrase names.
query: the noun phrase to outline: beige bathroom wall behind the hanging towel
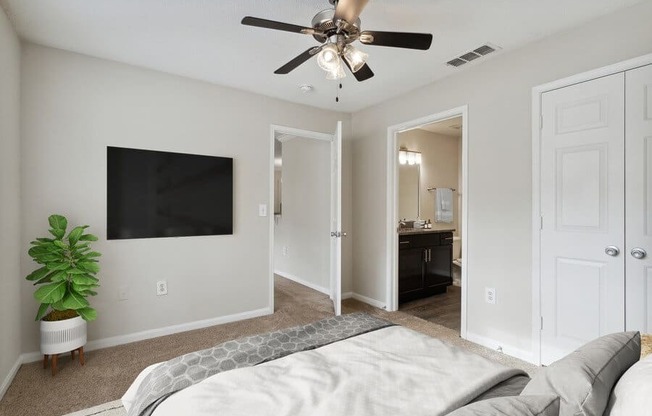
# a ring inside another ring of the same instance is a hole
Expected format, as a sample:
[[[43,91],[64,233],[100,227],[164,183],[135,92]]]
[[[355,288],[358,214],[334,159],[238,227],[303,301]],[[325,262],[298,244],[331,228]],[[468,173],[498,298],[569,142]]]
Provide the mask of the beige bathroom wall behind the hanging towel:
[[[426,130],[413,129],[398,135],[398,146],[421,152],[420,217],[430,219],[433,228],[455,228],[459,230],[457,189],[459,180],[460,138],[444,136]],[[435,222],[435,193],[428,188],[453,188],[453,223]]]

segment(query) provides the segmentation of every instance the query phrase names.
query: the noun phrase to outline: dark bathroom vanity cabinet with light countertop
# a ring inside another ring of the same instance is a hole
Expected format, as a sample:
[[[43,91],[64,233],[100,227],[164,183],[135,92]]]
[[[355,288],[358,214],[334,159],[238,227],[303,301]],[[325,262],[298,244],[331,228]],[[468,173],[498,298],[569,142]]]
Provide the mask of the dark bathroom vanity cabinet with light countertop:
[[[399,303],[444,293],[453,283],[453,231],[399,230]]]

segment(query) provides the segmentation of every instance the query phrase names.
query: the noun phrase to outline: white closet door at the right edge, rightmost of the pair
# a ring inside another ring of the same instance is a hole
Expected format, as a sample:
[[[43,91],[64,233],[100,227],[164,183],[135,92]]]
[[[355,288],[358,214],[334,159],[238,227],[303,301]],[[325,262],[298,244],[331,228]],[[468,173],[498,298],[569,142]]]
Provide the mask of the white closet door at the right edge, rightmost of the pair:
[[[625,270],[627,330],[652,332],[652,65],[627,71]],[[643,252],[643,258],[637,258]],[[635,257],[635,255],[637,257]]]

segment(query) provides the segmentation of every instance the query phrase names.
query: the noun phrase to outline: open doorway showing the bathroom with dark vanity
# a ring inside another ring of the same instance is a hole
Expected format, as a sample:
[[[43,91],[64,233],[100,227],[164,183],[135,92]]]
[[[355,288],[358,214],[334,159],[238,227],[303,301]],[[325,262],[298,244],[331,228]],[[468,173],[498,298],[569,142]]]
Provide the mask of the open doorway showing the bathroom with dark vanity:
[[[388,305],[465,337],[466,107],[390,127],[388,139]]]

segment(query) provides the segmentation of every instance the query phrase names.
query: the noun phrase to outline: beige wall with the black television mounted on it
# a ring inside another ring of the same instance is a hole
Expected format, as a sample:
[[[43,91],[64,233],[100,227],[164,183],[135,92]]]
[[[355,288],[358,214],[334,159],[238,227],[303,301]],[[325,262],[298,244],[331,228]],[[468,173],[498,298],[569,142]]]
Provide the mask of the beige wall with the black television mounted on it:
[[[269,218],[258,216],[258,204],[270,202],[270,124],[332,132],[343,120],[347,137],[348,115],[32,44],[23,45],[22,66],[20,246],[47,233],[53,212],[99,236],[102,287],[90,340],[269,307]],[[233,157],[233,235],[107,241],[108,145]],[[23,274],[34,268],[25,251]],[[168,281],[167,296],[155,295],[159,279]],[[129,299],[120,301],[125,286]],[[27,282],[21,300],[22,349],[35,351],[37,305]]]

